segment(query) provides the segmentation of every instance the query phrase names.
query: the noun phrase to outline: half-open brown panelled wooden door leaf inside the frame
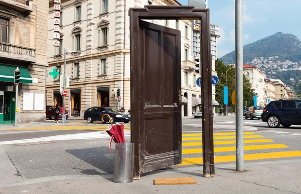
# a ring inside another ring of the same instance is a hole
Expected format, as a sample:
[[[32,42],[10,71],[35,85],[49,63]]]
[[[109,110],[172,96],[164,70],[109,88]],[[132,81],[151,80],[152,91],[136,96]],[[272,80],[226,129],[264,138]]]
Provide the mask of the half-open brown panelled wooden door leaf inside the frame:
[[[139,147],[134,166],[140,174],[182,162],[182,117],[180,31],[144,21],[139,26],[143,60],[133,71],[139,71],[134,85],[141,96],[139,114],[132,115],[138,128],[131,129],[139,138],[131,141]]]

